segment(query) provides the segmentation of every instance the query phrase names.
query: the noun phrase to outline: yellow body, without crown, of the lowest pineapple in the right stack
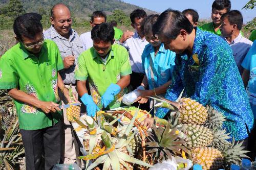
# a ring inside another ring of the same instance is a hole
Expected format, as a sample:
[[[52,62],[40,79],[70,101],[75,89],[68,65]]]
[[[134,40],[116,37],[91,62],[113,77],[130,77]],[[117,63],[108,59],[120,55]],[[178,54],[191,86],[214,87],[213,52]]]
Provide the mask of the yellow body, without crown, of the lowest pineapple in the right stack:
[[[221,151],[210,147],[191,149],[191,155],[193,162],[202,165],[204,170],[219,169],[224,161]]]

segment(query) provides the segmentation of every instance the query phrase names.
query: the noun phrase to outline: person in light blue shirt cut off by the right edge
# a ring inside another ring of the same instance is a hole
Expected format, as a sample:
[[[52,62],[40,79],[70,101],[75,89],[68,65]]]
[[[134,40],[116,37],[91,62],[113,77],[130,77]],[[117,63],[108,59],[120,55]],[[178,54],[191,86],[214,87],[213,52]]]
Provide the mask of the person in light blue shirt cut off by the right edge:
[[[248,149],[251,151],[251,159],[255,160],[256,156],[256,41],[253,44],[242,62],[244,73],[242,76],[244,87],[248,93],[251,110],[254,115],[254,128],[250,134]]]

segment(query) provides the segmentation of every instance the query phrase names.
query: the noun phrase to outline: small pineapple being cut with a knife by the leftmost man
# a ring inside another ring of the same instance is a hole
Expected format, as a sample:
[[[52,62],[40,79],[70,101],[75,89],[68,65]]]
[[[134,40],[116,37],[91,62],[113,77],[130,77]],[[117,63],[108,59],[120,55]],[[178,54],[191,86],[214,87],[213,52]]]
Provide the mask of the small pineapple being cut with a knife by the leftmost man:
[[[74,101],[74,96],[72,94],[72,89],[71,89],[71,86],[69,88],[69,95],[70,95],[70,99],[71,99],[71,103],[69,104],[72,104],[72,103],[75,103]],[[70,122],[75,122],[75,119],[79,119],[80,118],[80,106],[73,106],[73,105],[70,105],[69,108],[67,108],[67,118]]]

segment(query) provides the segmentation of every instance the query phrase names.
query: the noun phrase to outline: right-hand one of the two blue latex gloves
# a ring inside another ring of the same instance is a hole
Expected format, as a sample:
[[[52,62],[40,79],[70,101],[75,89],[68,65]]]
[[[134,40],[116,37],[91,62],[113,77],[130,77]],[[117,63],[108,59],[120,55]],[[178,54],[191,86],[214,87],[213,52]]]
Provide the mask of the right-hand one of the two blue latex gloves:
[[[101,97],[101,104],[104,108],[109,106],[109,104],[114,101],[115,95],[121,91],[121,87],[117,84],[111,83],[110,86],[106,89],[105,93]]]

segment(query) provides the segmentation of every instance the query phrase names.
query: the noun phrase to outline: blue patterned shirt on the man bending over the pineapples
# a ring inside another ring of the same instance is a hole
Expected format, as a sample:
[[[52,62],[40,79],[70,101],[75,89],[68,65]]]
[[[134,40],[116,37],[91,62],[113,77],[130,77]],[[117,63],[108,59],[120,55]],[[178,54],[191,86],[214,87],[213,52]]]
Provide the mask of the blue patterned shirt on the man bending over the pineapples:
[[[211,105],[224,113],[224,127],[236,140],[248,137],[253,126],[253,114],[248,102],[232,50],[219,36],[196,30],[193,54],[198,55],[199,65],[192,56],[176,55],[176,70],[165,98],[175,101],[183,88],[187,98]],[[156,116],[164,117],[168,109],[158,109]]]

